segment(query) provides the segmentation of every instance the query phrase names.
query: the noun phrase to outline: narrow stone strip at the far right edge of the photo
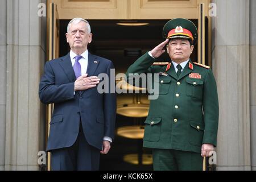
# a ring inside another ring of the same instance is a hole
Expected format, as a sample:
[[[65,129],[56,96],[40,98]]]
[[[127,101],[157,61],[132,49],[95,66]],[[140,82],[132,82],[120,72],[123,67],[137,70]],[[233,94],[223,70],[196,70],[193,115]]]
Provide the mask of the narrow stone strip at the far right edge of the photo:
[[[256,171],[256,1],[250,0],[251,169]]]

